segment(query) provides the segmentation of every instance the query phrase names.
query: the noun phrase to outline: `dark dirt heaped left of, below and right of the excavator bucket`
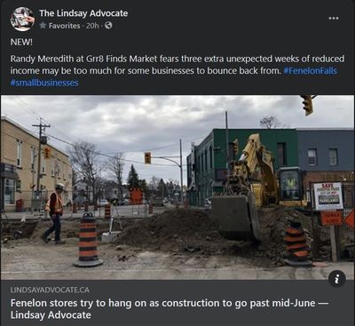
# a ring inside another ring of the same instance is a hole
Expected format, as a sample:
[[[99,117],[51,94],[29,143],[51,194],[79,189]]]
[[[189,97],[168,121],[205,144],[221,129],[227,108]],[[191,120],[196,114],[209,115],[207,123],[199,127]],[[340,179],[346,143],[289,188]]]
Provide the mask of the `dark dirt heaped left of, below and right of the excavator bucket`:
[[[118,244],[147,250],[185,251],[197,254],[236,255],[256,265],[280,266],[287,255],[283,236],[290,221],[301,222],[311,247],[312,221],[301,212],[282,207],[258,212],[261,243],[226,241],[217,232],[209,211],[179,209],[137,221],[123,229]]]

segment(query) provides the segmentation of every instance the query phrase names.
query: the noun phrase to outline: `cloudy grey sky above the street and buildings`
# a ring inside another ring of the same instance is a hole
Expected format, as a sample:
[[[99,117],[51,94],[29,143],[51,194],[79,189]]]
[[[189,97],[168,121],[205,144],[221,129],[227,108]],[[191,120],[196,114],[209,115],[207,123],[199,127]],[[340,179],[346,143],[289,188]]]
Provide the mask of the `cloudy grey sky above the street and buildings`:
[[[212,129],[225,128],[225,111],[231,129],[260,128],[266,115],[275,115],[283,128],[354,127],[353,96],[319,95],[308,116],[302,100],[297,95],[2,96],[1,104],[2,115],[36,134],[38,128],[32,124],[42,117],[51,124],[45,130],[50,144],[66,152],[67,143],[85,140],[95,144],[99,153],[123,153],[123,180],[133,162],[140,179],[179,180],[177,165],[154,156],[178,156],[182,139],[185,164],[191,142],[197,145]],[[144,164],[147,151],[153,156],[151,165]],[[105,160],[100,156],[102,163]]]

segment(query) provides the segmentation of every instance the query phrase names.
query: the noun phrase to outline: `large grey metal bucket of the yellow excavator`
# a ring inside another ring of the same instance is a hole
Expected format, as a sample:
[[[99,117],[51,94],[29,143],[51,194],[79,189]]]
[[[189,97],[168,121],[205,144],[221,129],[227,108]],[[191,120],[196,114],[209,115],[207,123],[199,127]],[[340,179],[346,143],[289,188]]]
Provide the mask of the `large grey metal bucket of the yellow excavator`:
[[[227,240],[259,241],[255,198],[247,195],[215,195],[211,198],[212,217]]]

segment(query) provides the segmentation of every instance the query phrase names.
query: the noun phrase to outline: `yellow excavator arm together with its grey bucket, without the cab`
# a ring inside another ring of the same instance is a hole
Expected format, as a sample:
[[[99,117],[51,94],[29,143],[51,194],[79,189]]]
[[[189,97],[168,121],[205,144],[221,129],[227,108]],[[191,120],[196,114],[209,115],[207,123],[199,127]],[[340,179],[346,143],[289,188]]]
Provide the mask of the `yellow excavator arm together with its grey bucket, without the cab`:
[[[212,196],[212,216],[226,239],[259,240],[256,203],[264,203],[269,196],[277,200],[272,155],[261,144],[259,134],[249,136],[241,157],[231,168],[225,193]]]

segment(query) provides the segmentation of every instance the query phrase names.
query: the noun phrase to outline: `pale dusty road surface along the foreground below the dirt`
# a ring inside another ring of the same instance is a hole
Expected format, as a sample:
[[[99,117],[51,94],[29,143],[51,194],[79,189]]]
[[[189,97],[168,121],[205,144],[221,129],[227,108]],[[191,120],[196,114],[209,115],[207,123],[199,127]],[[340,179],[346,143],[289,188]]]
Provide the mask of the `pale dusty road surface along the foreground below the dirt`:
[[[78,268],[77,240],[65,245],[20,239],[2,245],[2,279],[108,279],[108,280],[325,280],[335,270],[354,278],[352,262],[327,263],[327,267],[263,268],[248,258],[203,256],[190,253],[148,251],[109,243],[99,245],[102,266]]]

